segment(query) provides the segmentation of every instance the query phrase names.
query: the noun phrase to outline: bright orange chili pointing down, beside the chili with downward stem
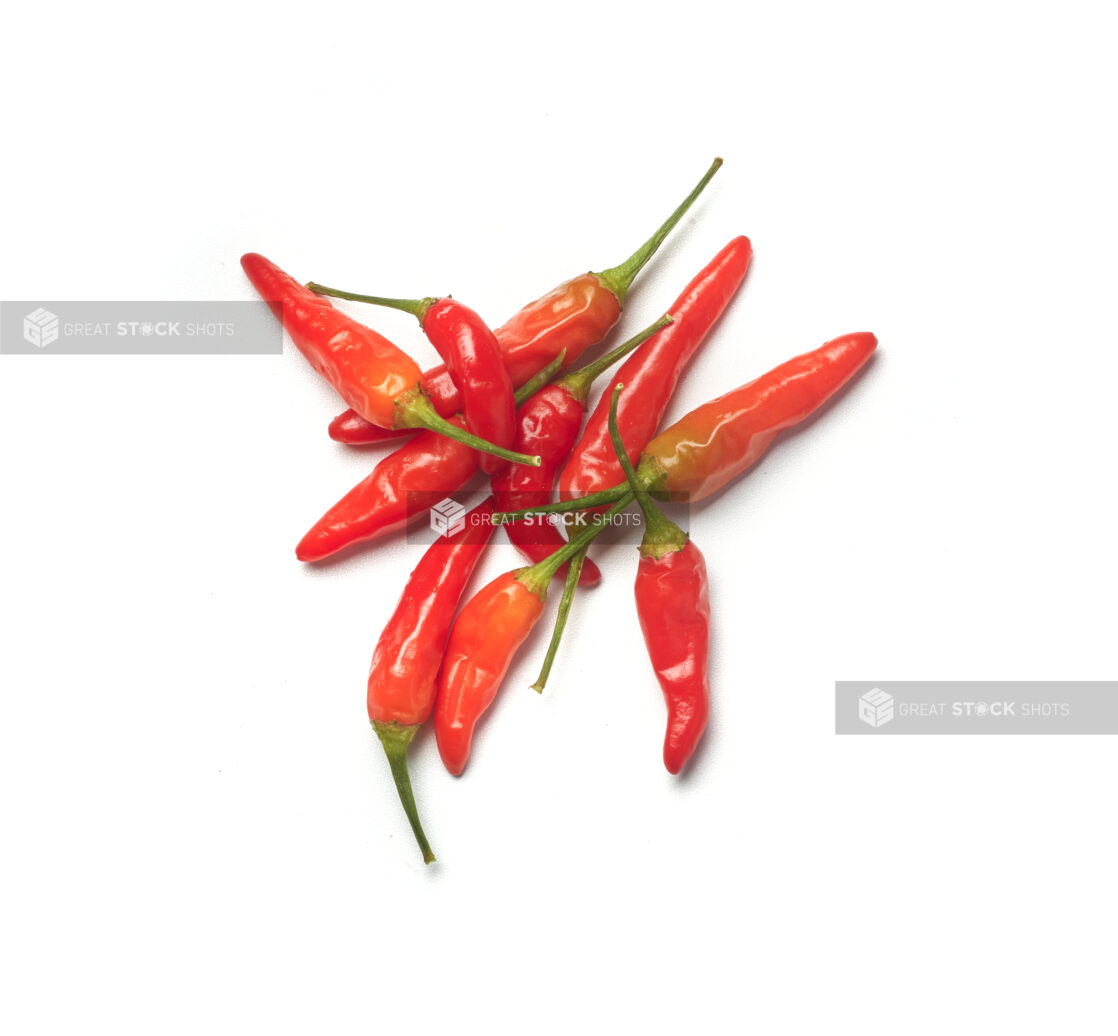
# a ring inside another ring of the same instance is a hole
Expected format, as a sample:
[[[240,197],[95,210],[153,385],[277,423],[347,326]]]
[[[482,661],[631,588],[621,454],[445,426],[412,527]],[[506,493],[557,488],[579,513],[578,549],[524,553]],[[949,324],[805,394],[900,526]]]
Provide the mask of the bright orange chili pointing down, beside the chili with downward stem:
[[[453,774],[466,768],[474,728],[493,704],[517,648],[543,614],[552,577],[604,527],[604,522],[590,524],[544,561],[499,576],[458,612],[435,695],[435,740]]]

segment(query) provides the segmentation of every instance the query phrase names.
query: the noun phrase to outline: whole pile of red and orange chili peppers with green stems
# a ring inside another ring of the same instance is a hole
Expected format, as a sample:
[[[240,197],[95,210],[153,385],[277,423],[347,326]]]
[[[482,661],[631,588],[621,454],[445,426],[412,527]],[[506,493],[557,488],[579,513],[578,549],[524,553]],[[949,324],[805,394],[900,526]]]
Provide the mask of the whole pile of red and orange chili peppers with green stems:
[[[496,330],[451,297],[386,298],[301,284],[256,254],[249,281],[292,341],[351,409],[330,435],[395,447],[330,507],[295,549],[319,561],[388,536],[481,473],[490,495],[436,540],[408,579],[372,654],[368,712],[423,852],[407,749],[434,716],[443,762],[459,774],[479,720],[517,649],[540,621],[553,579],[563,580],[542,691],[579,587],[601,573],[587,549],[634,500],[644,519],[636,610],[667,706],[664,766],[679,773],[710,713],[707,565],[656,501],[694,502],[754,465],[777,435],[825,403],[869,360],[866,332],[832,339],[661,429],[688,361],[745,279],[752,255],[733,238],[664,316],[604,355],[576,365],[620,317],[631,285],[721,165],[707,171],[656,232],[619,266],[581,274],[529,303]],[[414,314],[443,364],[428,371],[337,310],[328,296]],[[589,418],[594,381],[623,365]],[[558,488],[558,500],[555,500]],[[542,520],[541,515],[551,515]],[[570,531],[565,536],[561,529]],[[502,526],[528,565],[465,599],[471,577]]]

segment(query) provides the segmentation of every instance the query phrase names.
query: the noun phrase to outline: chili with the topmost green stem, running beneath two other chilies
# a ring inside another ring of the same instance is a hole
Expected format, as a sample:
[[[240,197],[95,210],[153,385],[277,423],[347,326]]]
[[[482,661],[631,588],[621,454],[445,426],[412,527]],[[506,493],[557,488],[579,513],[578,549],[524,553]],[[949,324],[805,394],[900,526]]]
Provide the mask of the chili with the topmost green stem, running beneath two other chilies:
[[[567,354],[567,365],[572,367],[587,349],[606,336],[606,332],[620,316],[625,296],[636,275],[655,255],[664,238],[683,218],[721,165],[722,160],[714,159],[691,193],[624,263],[600,273],[580,274],[560,284],[547,295],[529,303],[493,332],[504,353],[504,364],[513,384],[527,381],[561,352]],[[445,365],[428,370],[424,374],[424,387],[435,408],[444,417],[451,417],[462,409],[462,400],[455,393]],[[380,443],[390,436],[375,427],[363,428],[359,417],[344,414],[331,422],[331,437],[342,443],[363,445]]]

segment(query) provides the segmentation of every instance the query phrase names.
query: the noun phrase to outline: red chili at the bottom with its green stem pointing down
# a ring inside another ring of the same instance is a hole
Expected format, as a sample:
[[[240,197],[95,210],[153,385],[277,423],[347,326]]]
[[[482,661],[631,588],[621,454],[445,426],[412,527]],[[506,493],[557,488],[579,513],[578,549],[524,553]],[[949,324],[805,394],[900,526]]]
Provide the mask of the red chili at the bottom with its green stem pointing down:
[[[408,745],[435,705],[435,677],[446,635],[458,599],[493,534],[492,514],[491,496],[466,515],[458,532],[439,536],[427,548],[408,577],[369,667],[369,722],[385,748],[424,863],[432,863],[435,854],[419,824],[408,774]]]

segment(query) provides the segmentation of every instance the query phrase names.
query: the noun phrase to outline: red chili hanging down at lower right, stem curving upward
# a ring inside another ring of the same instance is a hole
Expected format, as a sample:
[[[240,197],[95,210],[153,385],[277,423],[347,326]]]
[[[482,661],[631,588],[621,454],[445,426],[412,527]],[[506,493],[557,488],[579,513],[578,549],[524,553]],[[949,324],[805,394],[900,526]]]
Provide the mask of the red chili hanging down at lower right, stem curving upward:
[[[634,595],[641,633],[667,704],[664,766],[679,773],[699,744],[710,715],[710,593],[707,562],[691,538],[652,502],[625,453],[617,427],[615,386],[609,403],[609,437],[617,459],[644,512],[645,531]]]

